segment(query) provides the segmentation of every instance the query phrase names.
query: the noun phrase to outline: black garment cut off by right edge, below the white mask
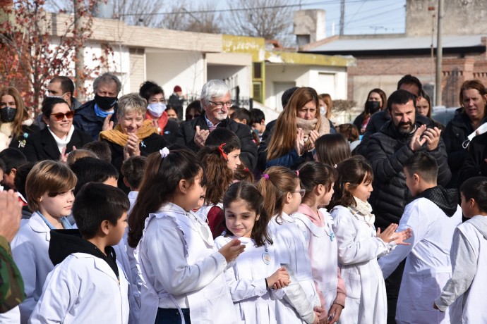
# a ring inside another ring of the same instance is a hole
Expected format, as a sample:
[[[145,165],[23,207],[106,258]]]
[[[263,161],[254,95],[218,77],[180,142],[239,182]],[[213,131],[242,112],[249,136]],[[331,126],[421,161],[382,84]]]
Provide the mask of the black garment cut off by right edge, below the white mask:
[[[471,140],[467,158],[459,170],[458,187],[469,177],[487,177],[487,132]]]

